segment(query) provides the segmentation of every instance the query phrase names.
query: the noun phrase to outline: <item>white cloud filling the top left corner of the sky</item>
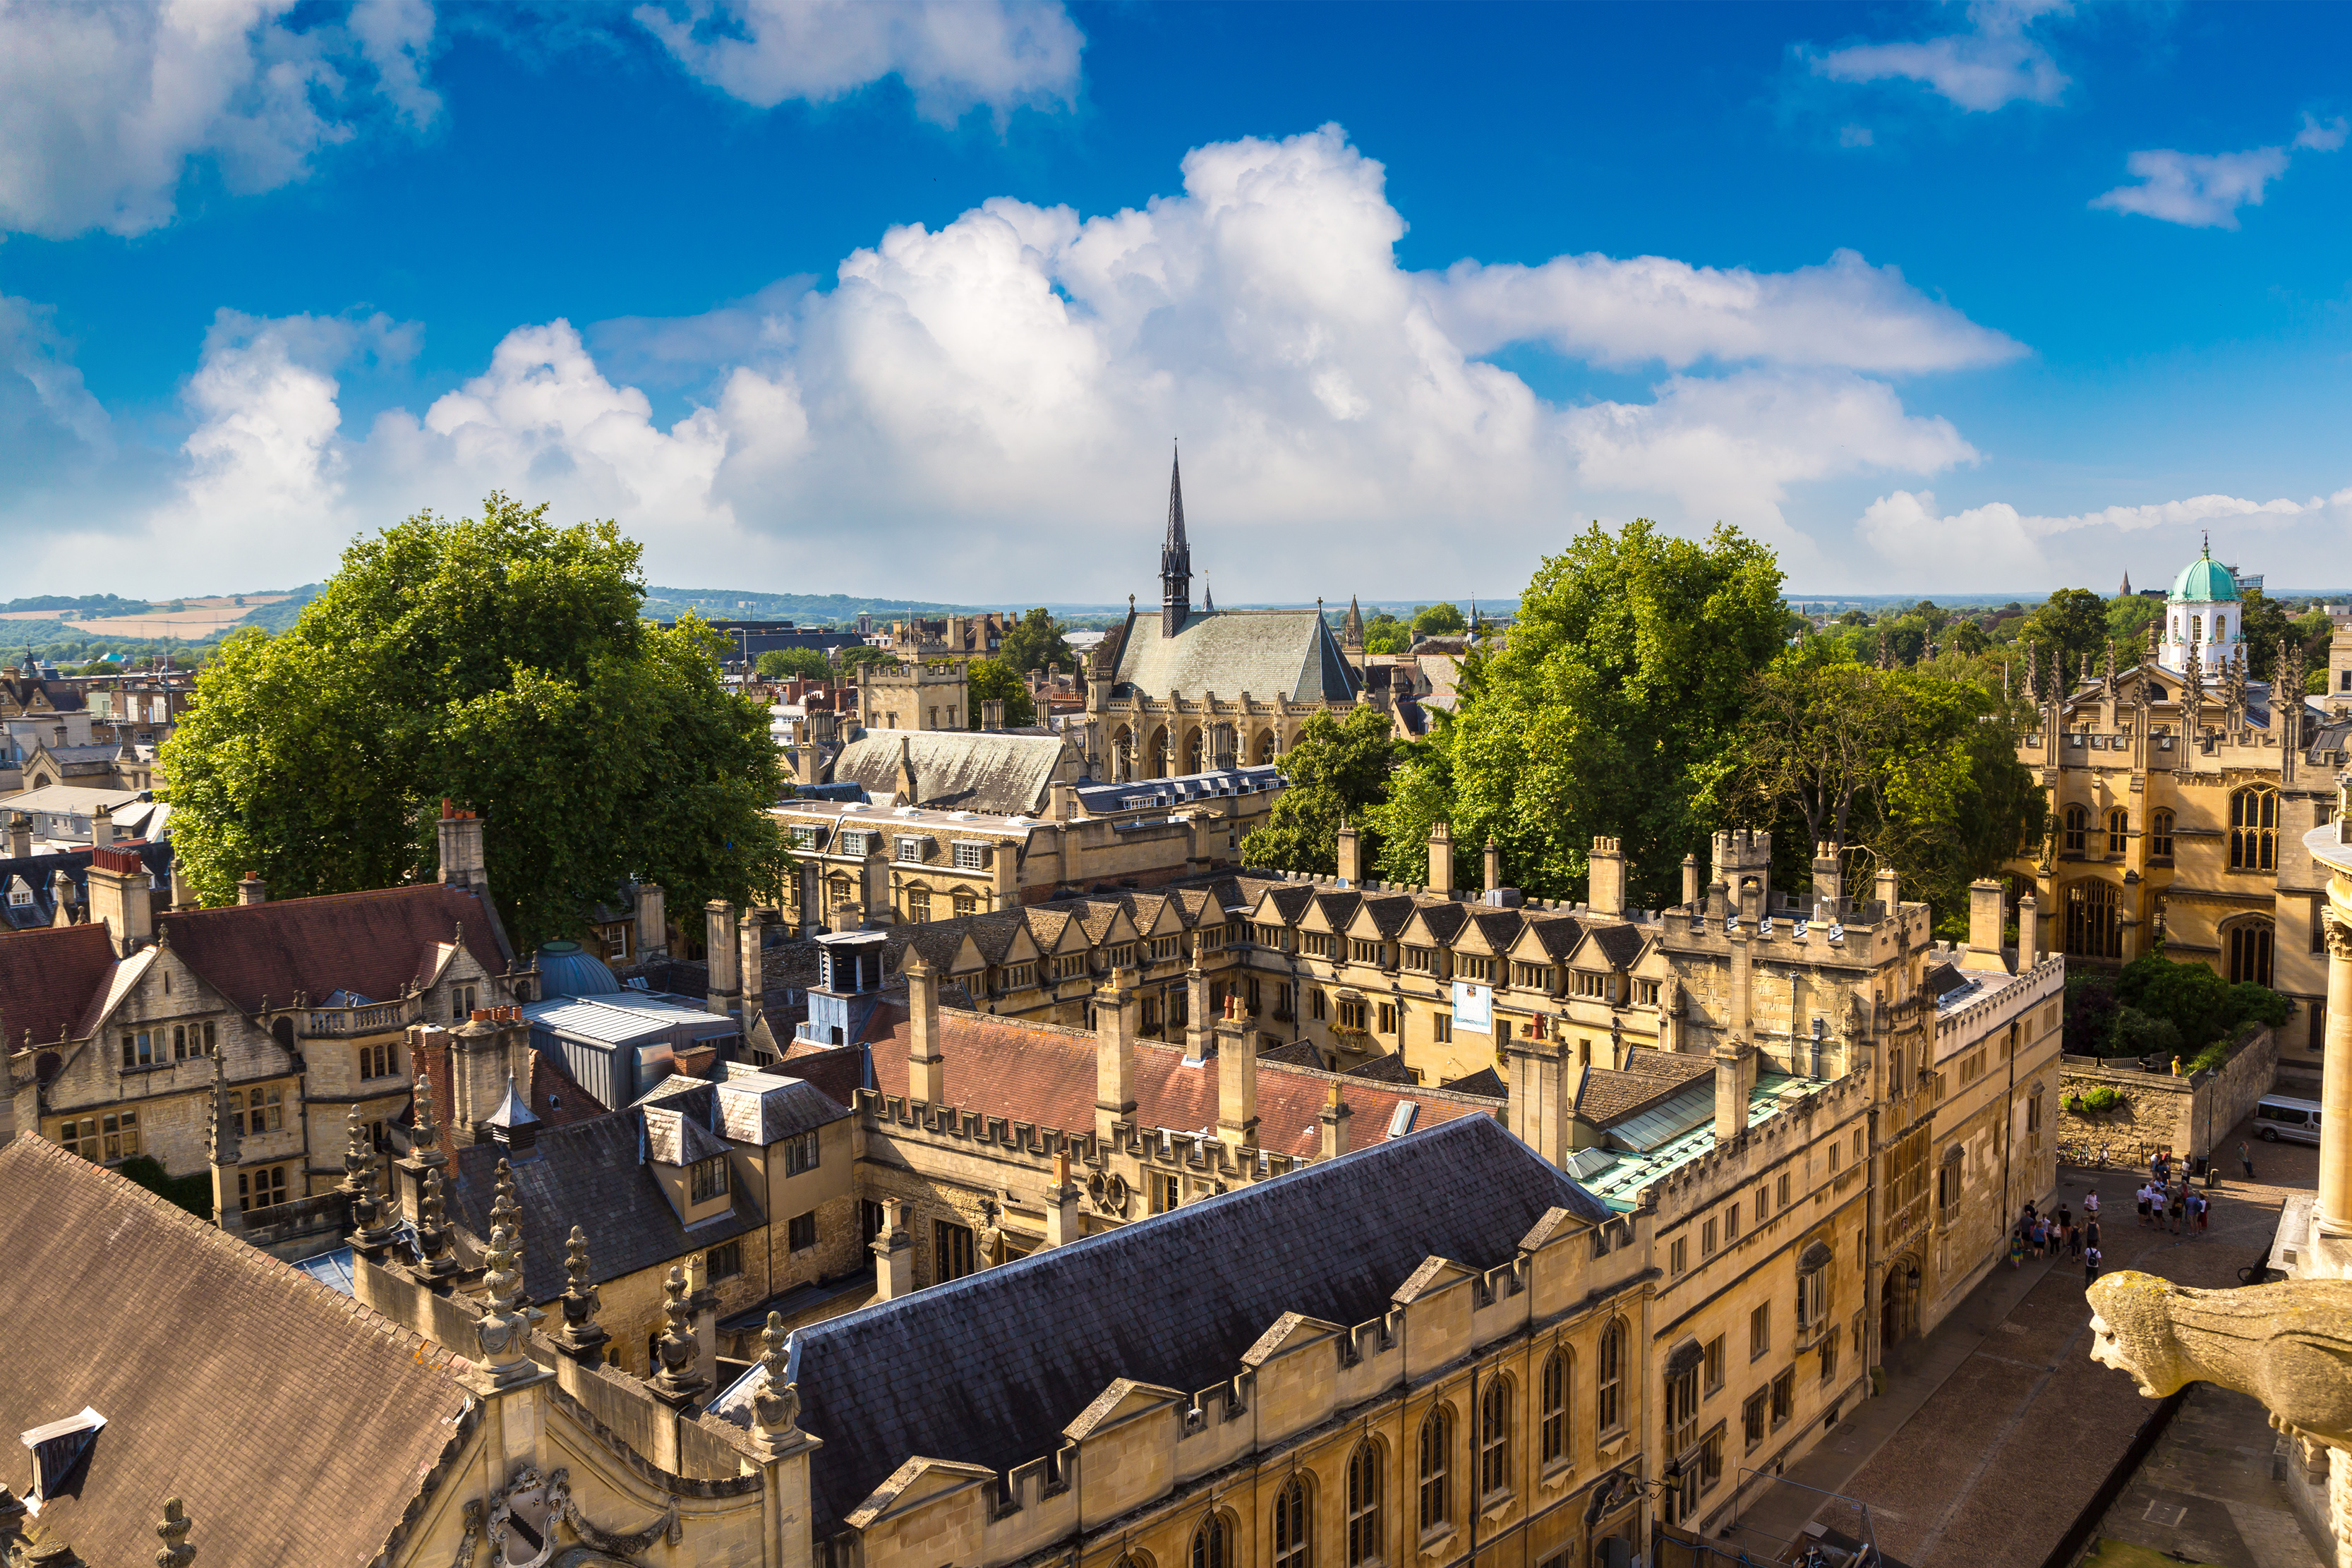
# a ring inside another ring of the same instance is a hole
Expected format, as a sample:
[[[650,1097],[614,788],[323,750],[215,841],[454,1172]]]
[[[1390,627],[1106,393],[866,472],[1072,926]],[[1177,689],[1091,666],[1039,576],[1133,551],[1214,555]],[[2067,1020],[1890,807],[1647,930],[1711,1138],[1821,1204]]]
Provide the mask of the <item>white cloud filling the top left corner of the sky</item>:
[[[433,120],[430,38],[428,0],[358,0],[348,26],[296,0],[0,5],[0,228],[160,228],[195,160],[230,190],[296,181],[355,134],[367,82],[412,125]]]

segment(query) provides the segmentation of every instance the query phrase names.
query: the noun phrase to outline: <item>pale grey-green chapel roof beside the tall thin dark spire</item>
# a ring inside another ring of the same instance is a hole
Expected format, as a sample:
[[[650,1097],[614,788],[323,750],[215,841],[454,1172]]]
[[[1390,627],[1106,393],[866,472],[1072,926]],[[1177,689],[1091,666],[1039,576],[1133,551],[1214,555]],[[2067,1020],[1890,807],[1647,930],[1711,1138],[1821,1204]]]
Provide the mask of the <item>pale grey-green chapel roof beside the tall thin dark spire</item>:
[[[1129,611],[1112,696],[1352,703],[1355,689],[1355,668],[1312,609],[1192,611],[1174,639],[1160,616]]]

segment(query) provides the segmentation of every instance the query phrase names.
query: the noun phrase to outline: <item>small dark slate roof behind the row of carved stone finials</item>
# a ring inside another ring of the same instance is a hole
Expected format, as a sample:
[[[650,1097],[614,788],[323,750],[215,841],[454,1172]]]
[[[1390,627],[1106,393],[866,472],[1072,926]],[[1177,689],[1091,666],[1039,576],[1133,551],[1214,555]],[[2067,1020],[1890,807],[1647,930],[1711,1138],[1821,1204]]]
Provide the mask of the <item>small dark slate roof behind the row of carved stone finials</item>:
[[[637,1117],[621,1112],[539,1133],[532,1159],[515,1161],[515,1201],[522,1206],[522,1293],[548,1302],[564,1293],[564,1239],[588,1232],[588,1272],[621,1279],[656,1262],[729,1241],[762,1222],[760,1204],[736,1182],[731,1206],[687,1234],[670,1199],[640,1159]],[[452,1213],[473,1234],[489,1234],[496,1199],[499,1145],[456,1152]]]

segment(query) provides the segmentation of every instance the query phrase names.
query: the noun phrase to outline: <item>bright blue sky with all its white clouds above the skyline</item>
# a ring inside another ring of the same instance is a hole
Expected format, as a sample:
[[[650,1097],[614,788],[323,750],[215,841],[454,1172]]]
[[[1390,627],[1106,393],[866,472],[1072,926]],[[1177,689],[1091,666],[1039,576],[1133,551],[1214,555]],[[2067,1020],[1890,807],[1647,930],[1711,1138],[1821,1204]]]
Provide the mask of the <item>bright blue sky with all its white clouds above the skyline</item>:
[[[191,21],[193,19],[193,21]],[[2343,7],[0,7],[16,592],[2352,583]]]

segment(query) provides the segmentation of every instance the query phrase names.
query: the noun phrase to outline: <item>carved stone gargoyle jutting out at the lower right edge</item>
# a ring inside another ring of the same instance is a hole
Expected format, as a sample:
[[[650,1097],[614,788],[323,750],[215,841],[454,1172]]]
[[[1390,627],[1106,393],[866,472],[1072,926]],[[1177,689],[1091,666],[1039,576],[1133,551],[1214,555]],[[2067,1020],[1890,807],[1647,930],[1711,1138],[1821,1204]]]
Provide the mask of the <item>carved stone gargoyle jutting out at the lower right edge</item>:
[[[2150,1399],[2218,1382],[2279,1432],[2352,1453],[2352,1281],[2197,1291],[2124,1269],[2091,1286],[2091,1359]]]

